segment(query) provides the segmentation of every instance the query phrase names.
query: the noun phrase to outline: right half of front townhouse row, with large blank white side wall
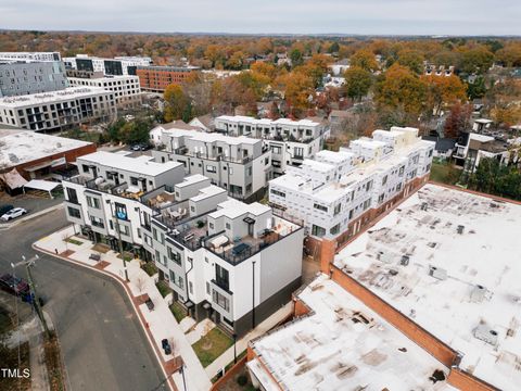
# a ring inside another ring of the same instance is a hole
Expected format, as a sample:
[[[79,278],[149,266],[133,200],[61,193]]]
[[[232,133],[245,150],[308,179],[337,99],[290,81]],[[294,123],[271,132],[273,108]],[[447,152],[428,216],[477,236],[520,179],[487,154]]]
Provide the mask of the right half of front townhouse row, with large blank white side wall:
[[[174,193],[178,201],[152,217],[145,247],[190,316],[243,336],[291,300],[301,283],[300,226],[228,198],[202,175]]]

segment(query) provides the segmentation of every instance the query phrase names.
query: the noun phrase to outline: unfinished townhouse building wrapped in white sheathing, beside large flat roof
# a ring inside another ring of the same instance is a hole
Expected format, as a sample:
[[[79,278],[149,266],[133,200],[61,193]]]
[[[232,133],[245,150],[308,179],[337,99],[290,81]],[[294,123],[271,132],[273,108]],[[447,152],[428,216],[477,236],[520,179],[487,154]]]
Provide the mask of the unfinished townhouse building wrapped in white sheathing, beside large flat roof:
[[[339,152],[320,151],[269,182],[270,204],[303,222],[310,244],[321,238],[342,244],[427,181],[434,142],[418,138],[416,128],[372,136]]]

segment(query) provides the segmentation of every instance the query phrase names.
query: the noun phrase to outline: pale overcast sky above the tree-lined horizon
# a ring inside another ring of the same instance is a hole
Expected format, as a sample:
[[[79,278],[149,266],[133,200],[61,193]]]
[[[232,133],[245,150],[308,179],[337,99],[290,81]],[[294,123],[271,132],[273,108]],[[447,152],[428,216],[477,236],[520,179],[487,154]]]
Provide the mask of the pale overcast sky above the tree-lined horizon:
[[[521,35],[521,0],[0,0],[0,28]]]

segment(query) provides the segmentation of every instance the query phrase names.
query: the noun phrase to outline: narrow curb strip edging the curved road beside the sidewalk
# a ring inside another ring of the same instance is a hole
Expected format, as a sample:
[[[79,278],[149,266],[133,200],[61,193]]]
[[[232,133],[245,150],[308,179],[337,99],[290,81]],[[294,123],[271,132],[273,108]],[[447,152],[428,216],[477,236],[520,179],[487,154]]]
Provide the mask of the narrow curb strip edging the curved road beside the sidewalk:
[[[141,311],[139,310],[139,307],[136,306],[136,303],[134,302],[134,295],[130,291],[130,288],[128,288],[127,283],[125,283],[125,281],[119,277],[119,276],[115,276],[113,275],[112,273],[110,272],[105,272],[105,270],[102,270],[102,269],[98,269],[93,266],[90,266],[90,265],[86,265],[86,264],[82,264],[78,261],[74,261],[74,260],[69,260],[65,256],[61,256],[61,255],[56,255],[55,253],[53,253],[52,251],[48,251],[48,250],[45,250],[38,245],[36,245],[36,243],[33,243],[33,249],[39,251],[39,252],[42,252],[42,253],[46,253],[48,255],[51,255],[55,258],[59,258],[59,260],[62,260],[62,261],[65,261],[65,262],[69,262],[72,264],[75,264],[77,266],[81,266],[81,267],[85,267],[85,268],[88,268],[90,270],[94,270],[94,272],[98,272],[100,274],[103,274],[110,278],[112,278],[113,280],[117,281],[125,290],[125,293],[127,294],[127,298],[129,299],[130,303],[132,304],[132,308],[134,308],[134,312],[136,313],[136,315],[138,316],[139,318],[139,323],[141,324],[141,327],[143,328],[143,331],[147,336],[147,340],[149,341],[149,344],[151,345],[152,348],[152,351],[154,352],[155,354],[155,357],[157,358],[157,362],[161,364],[161,369],[163,371],[163,375],[165,376],[166,379],[168,379],[167,381],[167,384],[169,386],[169,389],[171,391],[178,391],[177,390],[177,387],[176,387],[176,383],[174,382],[174,379],[171,378],[170,375],[168,375],[166,373],[166,369],[165,369],[165,361],[163,360],[163,357],[160,355],[160,353],[157,352],[157,346],[155,345],[153,339],[152,339],[152,336],[151,336],[151,332],[149,330],[149,328],[145,326],[145,321],[144,321],[144,316],[142,315]]]

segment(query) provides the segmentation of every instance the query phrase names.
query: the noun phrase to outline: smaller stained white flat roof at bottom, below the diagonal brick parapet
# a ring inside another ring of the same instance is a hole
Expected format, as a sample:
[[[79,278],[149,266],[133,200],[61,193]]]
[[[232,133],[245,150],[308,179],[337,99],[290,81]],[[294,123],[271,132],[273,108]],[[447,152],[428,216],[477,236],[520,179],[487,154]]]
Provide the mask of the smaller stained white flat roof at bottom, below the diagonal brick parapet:
[[[283,390],[454,390],[430,379],[448,368],[326,275],[298,299],[310,315],[251,344]]]

